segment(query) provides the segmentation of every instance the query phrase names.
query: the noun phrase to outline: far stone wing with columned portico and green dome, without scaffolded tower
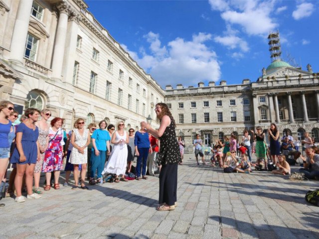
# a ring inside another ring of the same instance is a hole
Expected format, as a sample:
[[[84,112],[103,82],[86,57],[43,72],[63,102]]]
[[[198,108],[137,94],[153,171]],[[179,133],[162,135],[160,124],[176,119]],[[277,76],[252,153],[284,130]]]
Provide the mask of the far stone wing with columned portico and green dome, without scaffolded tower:
[[[319,141],[319,73],[310,65],[304,71],[275,60],[256,82],[221,81],[218,86],[200,82],[196,88],[177,85],[176,89],[168,85],[165,102],[176,120],[176,133],[188,145],[196,133],[209,145],[232,132],[242,135],[245,128],[268,128],[271,122],[295,137],[312,132]]]

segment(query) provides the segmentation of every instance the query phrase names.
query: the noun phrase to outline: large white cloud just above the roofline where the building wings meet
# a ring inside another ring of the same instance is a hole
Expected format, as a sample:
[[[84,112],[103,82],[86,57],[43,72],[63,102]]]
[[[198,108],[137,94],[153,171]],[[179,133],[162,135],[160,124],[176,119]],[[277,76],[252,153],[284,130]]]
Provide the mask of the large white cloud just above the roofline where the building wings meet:
[[[195,85],[200,81],[220,79],[216,53],[205,45],[205,41],[211,39],[210,34],[198,33],[192,36],[191,41],[176,38],[166,46],[161,46],[159,38],[159,34],[153,32],[146,35],[151,54],[141,50],[139,58],[138,53],[128,52],[162,87],[176,84]]]

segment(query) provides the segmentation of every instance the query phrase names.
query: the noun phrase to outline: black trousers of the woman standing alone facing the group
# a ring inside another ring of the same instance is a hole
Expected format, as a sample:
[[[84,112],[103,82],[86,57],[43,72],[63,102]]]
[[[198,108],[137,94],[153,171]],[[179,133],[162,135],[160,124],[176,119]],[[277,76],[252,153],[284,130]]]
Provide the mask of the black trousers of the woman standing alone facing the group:
[[[160,169],[160,204],[172,206],[177,201],[177,165],[167,164]]]

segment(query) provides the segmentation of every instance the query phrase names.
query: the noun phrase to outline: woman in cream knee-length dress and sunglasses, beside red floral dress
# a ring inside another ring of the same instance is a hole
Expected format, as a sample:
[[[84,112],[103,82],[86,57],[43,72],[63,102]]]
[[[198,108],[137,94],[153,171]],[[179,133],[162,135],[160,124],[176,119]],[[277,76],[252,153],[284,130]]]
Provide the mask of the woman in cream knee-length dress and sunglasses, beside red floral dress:
[[[70,163],[74,164],[74,186],[72,189],[78,188],[79,181],[79,165],[81,164],[81,188],[88,189],[84,184],[87,162],[88,162],[88,151],[87,146],[90,144],[91,137],[89,135],[89,129],[84,127],[84,119],[77,119],[74,123],[75,128],[72,130],[71,143],[73,145],[71,152]]]

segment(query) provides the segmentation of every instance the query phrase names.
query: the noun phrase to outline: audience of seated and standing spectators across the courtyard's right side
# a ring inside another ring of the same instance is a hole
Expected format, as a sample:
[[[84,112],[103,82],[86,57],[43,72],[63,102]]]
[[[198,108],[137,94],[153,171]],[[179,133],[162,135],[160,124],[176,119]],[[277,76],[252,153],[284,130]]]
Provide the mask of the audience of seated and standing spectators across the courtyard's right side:
[[[303,157],[300,152],[301,145],[306,157]],[[202,163],[206,164],[199,134],[196,134],[193,147],[197,164],[199,165],[198,155]],[[255,167],[260,171],[268,170],[274,174],[290,175],[290,165],[295,165],[301,158],[303,163],[300,172],[304,173],[308,179],[319,179],[319,149],[314,139],[305,132],[303,140],[294,140],[289,131],[280,138],[280,132],[275,123],[271,123],[268,129],[260,126],[255,130],[251,129],[250,132],[245,129],[241,139],[234,133],[231,133],[229,137],[224,136],[223,142],[216,140],[210,151],[211,153],[208,153],[212,154],[211,166],[220,166],[225,173],[251,173]],[[252,154],[256,156],[255,163],[252,162]]]

